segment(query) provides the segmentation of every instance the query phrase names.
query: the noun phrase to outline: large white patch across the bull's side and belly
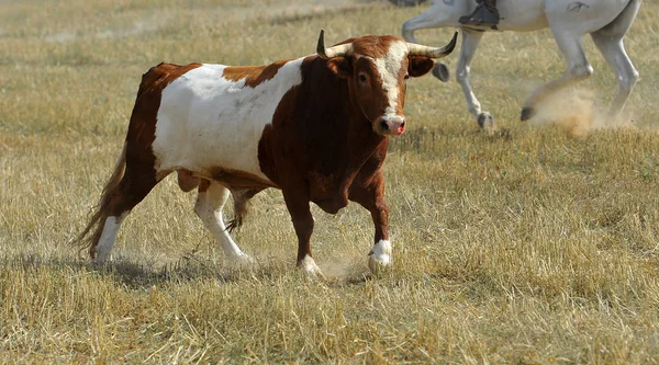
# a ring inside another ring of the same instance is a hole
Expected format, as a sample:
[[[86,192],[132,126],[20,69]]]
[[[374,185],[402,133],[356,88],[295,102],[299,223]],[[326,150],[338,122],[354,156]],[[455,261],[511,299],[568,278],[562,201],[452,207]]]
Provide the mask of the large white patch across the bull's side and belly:
[[[286,62],[256,88],[232,81],[227,66],[204,64],[163,90],[153,151],[156,171],[186,168],[197,174],[221,167],[270,181],[258,163],[258,141],[281,98],[302,82],[304,58]]]

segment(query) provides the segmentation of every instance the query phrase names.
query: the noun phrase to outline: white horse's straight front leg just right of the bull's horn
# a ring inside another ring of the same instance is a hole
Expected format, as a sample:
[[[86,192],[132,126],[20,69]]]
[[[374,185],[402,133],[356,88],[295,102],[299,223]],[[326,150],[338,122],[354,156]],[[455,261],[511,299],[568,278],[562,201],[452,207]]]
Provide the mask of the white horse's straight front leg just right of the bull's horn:
[[[493,128],[493,118],[489,112],[481,110],[481,104],[476,98],[471,84],[469,83],[469,73],[471,72],[471,61],[476,55],[476,49],[483,37],[483,32],[462,30],[462,46],[460,47],[460,59],[456,67],[456,79],[462,88],[465,100],[469,113],[476,117],[481,127]]]

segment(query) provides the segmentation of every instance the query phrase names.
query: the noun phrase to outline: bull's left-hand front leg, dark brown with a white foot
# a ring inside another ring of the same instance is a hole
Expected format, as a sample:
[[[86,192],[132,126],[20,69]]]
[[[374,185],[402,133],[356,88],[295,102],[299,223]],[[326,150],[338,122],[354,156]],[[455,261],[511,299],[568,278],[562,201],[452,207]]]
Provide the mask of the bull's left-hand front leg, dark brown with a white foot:
[[[311,233],[313,232],[313,216],[309,208],[309,198],[300,196],[301,190],[283,192],[286,206],[291,215],[295,235],[298,235],[298,267],[310,277],[325,278],[321,269],[311,255]]]

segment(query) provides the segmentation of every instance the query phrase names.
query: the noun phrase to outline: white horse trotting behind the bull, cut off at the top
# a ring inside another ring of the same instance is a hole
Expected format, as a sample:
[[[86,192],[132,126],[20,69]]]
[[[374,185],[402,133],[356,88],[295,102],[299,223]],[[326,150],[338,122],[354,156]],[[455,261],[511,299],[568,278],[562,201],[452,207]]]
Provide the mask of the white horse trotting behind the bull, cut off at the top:
[[[469,112],[481,127],[494,127],[492,115],[481,109],[469,84],[470,65],[484,34],[490,31],[530,32],[551,28],[558,47],[566,58],[568,70],[559,79],[536,89],[524,103],[521,119],[534,116],[536,107],[550,93],[587,79],[593,68],[583,47],[583,37],[590,34],[613,69],[618,82],[618,93],[611,104],[610,113],[616,118],[627,102],[638,79],[624,46],[624,37],[634,23],[643,0],[499,0],[501,15],[495,30],[465,26],[458,20],[477,7],[477,0],[435,0],[434,5],[403,24],[403,37],[415,42],[414,31],[433,27],[460,27],[462,45],[457,64],[457,80],[462,88]],[[448,80],[445,65],[437,64],[433,75]]]

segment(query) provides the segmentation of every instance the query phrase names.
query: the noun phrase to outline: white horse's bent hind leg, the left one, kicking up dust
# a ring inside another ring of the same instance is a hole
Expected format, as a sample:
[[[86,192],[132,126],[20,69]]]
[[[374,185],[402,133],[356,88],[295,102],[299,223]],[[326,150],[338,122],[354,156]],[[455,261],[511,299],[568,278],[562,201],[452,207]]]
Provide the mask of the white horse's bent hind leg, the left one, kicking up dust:
[[[588,79],[593,73],[593,68],[585,57],[583,34],[573,34],[557,27],[558,26],[552,25],[551,31],[554,32],[554,37],[556,38],[558,47],[566,57],[568,71],[561,78],[548,82],[533,92],[530,98],[524,103],[524,109],[522,109],[522,121],[532,118],[535,115],[535,106],[537,103],[541,102],[550,93],[578,81]]]

